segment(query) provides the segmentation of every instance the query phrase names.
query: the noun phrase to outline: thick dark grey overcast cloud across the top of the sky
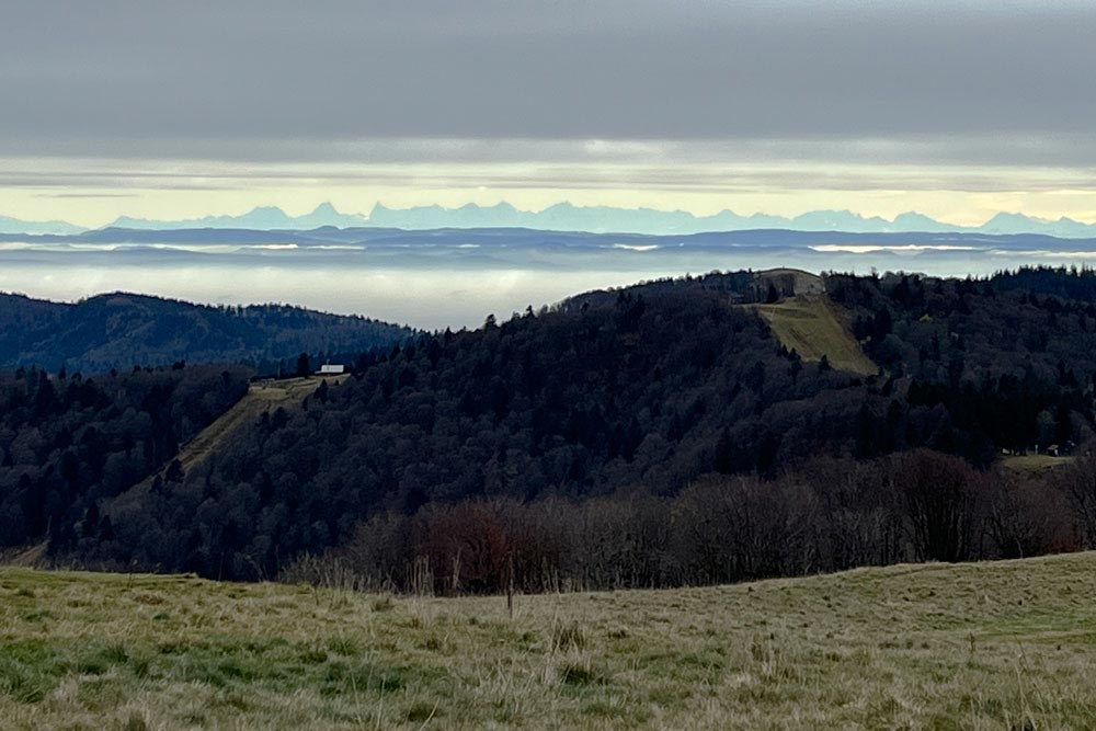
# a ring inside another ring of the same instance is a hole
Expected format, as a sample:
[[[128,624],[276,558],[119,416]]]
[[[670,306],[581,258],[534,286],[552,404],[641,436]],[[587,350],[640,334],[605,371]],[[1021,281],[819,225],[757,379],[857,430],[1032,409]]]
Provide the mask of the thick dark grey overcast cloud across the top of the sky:
[[[9,0],[0,155],[955,135],[984,162],[1096,160],[1092,3],[226,4]]]

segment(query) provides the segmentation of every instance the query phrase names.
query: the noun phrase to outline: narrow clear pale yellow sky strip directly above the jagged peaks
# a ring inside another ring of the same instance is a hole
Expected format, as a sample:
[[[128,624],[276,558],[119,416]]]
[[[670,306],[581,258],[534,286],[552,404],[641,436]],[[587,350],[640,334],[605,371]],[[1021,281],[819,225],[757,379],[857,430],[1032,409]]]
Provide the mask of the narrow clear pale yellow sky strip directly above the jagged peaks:
[[[109,193],[103,191],[103,193]],[[494,205],[507,202],[524,210],[540,210],[563,201],[579,206],[615,206],[688,210],[710,215],[730,209],[740,215],[762,213],[792,217],[811,210],[848,209],[863,216],[893,219],[910,210],[941,222],[978,226],[1001,212],[1024,213],[1038,218],[1062,216],[1096,222],[1094,194],[1083,191],[971,194],[958,191],[785,191],[779,193],[683,194],[673,191],[605,191],[583,189],[513,190],[481,189],[279,189],[224,192],[164,192],[119,190],[125,197],[42,197],[23,190],[0,189],[0,215],[23,220],[66,220],[99,228],[119,216],[180,220],[203,216],[244,214],[258,206],[277,206],[290,216],[311,212],[330,202],[340,213],[367,215],[375,202],[390,208],[437,204],[458,207],[467,203]],[[83,195],[83,194],[81,194]]]

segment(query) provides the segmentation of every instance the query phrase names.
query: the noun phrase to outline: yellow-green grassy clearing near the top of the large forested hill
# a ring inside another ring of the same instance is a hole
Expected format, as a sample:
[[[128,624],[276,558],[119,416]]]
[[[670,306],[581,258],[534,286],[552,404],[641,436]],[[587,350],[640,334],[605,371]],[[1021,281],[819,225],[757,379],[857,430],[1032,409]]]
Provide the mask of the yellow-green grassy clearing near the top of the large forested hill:
[[[804,361],[823,355],[838,370],[872,375],[879,370],[861,351],[835,306],[824,295],[800,296],[773,305],[750,305],[765,318],[773,333]]]

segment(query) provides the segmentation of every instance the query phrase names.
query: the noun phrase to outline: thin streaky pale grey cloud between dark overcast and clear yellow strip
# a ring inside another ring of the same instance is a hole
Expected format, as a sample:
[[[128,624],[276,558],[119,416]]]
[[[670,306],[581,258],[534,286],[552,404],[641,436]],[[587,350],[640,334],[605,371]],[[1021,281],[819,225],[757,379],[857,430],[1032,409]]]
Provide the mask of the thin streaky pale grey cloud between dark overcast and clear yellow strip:
[[[550,142],[545,146],[551,147]],[[253,162],[225,163],[208,160],[124,159],[0,159],[0,189],[30,187],[39,191],[73,189],[230,191],[262,186],[285,187],[388,186],[399,189],[585,189],[653,190],[693,193],[752,193],[764,191],[955,191],[969,193],[1096,192],[1096,171],[1084,168],[957,167],[907,164],[886,158],[857,161],[841,157],[807,159],[768,158],[762,161],[720,159],[718,149],[704,144],[682,151],[657,151],[642,145],[630,153],[604,155],[573,150],[576,157],[546,161],[522,147],[505,147],[502,159],[469,158],[455,161],[444,156],[423,162],[418,153],[385,162]],[[652,150],[643,152],[642,150]],[[700,153],[711,152],[701,159]],[[563,152],[560,152],[561,155]],[[646,156],[646,157],[644,157]]]

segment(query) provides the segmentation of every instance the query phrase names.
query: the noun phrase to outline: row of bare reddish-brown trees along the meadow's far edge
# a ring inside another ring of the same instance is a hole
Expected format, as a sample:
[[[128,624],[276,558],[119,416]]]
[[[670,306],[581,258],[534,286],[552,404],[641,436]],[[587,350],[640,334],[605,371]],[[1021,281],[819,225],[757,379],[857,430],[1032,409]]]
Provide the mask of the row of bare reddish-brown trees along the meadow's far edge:
[[[323,560],[373,590],[427,594],[615,590],[971,561],[1096,547],[1096,458],[1029,476],[926,449],[822,457],[772,480],[705,476],[674,495],[476,498],[387,512]]]

